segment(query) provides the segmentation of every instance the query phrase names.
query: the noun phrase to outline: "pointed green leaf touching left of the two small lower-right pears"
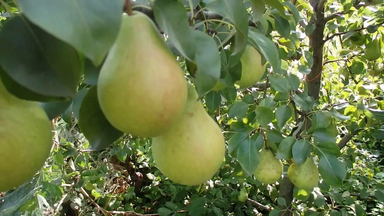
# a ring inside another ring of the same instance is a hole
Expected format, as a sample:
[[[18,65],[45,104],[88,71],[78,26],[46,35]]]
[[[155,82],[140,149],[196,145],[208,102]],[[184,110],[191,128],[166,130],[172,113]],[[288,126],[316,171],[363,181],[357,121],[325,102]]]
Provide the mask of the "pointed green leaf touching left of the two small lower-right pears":
[[[237,149],[237,161],[250,176],[256,171],[260,161],[260,154],[256,143],[250,137],[240,143]]]

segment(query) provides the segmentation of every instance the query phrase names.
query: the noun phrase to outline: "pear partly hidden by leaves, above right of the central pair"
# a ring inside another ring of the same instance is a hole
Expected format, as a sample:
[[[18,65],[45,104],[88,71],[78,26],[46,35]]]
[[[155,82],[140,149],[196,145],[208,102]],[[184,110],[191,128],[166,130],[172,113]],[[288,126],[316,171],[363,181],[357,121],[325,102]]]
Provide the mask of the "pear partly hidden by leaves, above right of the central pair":
[[[242,73],[240,80],[235,84],[240,88],[248,88],[263,77],[265,65],[262,65],[262,56],[251,45],[245,47],[245,51],[240,58]]]

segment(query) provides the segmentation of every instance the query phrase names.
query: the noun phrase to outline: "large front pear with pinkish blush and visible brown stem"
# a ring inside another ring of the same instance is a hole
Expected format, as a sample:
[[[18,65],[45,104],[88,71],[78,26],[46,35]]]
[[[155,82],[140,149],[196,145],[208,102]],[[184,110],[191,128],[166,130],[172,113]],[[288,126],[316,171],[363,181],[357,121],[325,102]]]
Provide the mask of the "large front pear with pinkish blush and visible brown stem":
[[[98,79],[98,100],[107,120],[135,136],[158,136],[181,116],[187,99],[184,72],[140,12],[122,17],[120,32]]]

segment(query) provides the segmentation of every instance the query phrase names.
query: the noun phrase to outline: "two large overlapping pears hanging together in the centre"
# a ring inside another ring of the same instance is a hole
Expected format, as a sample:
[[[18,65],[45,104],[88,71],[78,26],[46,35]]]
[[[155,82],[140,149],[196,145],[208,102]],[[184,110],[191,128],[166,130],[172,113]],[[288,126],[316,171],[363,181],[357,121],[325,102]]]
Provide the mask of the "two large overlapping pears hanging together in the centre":
[[[154,161],[170,180],[197,185],[217,172],[224,159],[223,134],[143,13],[122,16],[97,90],[111,125],[134,136],[153,137]]]

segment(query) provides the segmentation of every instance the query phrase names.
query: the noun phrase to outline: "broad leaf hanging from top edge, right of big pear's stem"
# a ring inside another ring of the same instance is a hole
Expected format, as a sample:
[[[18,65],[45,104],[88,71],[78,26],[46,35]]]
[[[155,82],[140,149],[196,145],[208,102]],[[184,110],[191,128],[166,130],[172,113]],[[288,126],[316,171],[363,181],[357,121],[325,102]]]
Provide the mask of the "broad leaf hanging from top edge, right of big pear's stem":
[[[153,5],[157,24],[168,35],[168,40],[189,61],[195,60],[196,45],[184,5],[177,0],[157,0]]]

